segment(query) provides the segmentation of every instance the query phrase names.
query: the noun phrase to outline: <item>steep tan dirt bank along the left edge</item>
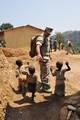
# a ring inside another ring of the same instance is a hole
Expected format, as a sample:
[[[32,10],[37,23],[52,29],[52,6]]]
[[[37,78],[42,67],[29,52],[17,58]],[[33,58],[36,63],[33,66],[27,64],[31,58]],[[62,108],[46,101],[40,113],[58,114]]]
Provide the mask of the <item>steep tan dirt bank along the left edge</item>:
[[[12,98],[9,85],[12,74],[11,66],[0,49],[0,120],[4,120],[7,103]]]

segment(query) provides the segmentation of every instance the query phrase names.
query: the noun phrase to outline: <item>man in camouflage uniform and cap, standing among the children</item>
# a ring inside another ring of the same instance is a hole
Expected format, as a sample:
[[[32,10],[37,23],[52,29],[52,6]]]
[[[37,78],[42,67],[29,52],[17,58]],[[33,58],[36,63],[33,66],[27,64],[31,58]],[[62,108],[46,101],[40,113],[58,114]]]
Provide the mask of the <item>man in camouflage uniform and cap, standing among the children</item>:
[[[52,30],[52,28],[46,27],[36,42],[37,58],[40,64],[41,89],[45,92],[50,90],[48,75],[50,73],[50,35]]]

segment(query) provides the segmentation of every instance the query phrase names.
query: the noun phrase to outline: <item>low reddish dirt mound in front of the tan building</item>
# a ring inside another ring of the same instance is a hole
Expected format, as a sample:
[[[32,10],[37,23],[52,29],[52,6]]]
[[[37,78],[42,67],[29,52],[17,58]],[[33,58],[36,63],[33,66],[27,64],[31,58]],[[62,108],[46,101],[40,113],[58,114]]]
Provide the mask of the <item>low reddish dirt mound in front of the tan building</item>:
[[[26,54],[26,51],[22,49],[2,48],[2,51],[6,57],[18,57]]]

